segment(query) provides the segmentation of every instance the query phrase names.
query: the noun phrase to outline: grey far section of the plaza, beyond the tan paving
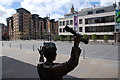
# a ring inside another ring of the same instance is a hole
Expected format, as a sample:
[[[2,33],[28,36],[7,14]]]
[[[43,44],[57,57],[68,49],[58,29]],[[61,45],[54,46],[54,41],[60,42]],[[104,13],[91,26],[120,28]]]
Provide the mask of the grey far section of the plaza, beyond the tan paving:
[[[43,45],[44,41],[7,41],[3,42],[3,47],[8,48],[19,48],[22,50],[34,51],[37,53],[37,48]],[[73,42],[55,42],[57,46],[57,53],[69,55],[71,52],[71,48],[73,46]],[[84,51],[86,57],[93,58],[102,58],[109,60],[118,60],[118,44],[112,45],[112,43],[90,43],[83,44],[81,43],[80,48],[82,49],[82,53]]]

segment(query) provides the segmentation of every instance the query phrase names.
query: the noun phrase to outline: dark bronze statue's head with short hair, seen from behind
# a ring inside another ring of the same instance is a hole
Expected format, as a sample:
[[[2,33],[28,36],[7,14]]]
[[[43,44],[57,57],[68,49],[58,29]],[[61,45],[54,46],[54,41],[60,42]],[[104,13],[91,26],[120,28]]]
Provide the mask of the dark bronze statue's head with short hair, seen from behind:
[[[44,42],[42,47],[43,54],[47,60],[54,61],[56,59],[56,45],[53,42]]]

